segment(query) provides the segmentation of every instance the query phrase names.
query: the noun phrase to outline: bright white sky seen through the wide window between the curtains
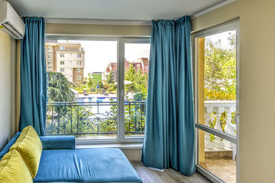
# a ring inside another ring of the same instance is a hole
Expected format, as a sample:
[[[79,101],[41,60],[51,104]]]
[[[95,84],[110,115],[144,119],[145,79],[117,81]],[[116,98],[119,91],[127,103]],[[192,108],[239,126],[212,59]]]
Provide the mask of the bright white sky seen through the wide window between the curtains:
[[[87,77],[88,73],[104,72],[109,62],[118,62],[117,41],[68,40],[68,42],[80,42],[85,50],[84,77]],[[137,58],[149,58],[149,53],[150,44],[125,44],[125,58],[130,62],[136,62]]]

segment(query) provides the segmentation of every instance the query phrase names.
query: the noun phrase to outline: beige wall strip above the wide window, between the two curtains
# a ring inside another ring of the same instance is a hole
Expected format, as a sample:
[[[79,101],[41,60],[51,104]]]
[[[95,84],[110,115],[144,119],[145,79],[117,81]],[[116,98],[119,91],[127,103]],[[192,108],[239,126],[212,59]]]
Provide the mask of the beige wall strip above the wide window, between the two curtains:
[[[108,36],[150,36],[150,25],[91,25],[46,23],[46,34],[85,34]]]

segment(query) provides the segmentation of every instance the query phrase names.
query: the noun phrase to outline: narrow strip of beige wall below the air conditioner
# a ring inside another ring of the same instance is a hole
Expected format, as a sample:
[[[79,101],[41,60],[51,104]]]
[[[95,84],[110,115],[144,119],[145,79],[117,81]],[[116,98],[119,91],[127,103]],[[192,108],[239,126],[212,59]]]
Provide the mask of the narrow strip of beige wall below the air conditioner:
[[[0,31],[0,149],[16,132],[17,41]]]

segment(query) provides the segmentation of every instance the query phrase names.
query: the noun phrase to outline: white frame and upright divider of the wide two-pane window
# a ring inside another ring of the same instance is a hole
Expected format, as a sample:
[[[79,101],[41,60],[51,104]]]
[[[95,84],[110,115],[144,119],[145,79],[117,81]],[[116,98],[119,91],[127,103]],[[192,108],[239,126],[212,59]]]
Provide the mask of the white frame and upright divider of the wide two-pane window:
[[[94,40],[94,41],[116,41],[117,42],[117,66],[118,66],[118,117],[116,139],[90,139],[77,140],[76,145],[104,145],[118,143],[143,143],[144,137],[124,136],[124,45],[126,43],[151,43],[151,36],[94,36],[94,35],[72,35],[72,34],[45,34],[46,40]]]

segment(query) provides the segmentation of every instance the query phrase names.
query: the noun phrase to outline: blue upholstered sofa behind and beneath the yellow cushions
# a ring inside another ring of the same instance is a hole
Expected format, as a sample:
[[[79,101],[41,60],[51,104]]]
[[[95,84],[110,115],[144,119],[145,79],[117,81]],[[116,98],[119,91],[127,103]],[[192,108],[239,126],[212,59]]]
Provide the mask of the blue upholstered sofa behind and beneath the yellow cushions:
[[[21,132],[0,152],[8,153]],[[34,182],[142,182],[120,149],[76,149],[74,136],[41,136],[43,151]]]

